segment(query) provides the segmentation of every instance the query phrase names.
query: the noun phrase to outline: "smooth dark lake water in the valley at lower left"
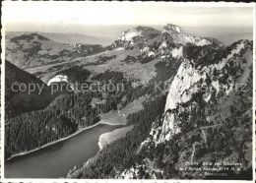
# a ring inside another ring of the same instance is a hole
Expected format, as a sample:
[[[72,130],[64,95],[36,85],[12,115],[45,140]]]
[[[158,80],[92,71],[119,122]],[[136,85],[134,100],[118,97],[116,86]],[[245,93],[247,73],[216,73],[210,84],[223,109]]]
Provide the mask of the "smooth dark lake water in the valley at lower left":
[[[120,126],[97,125],[55,145],[20,157],[5,164],[6,178],[59,178],[74,165],[82,165],[99,150],[98,138]]]

